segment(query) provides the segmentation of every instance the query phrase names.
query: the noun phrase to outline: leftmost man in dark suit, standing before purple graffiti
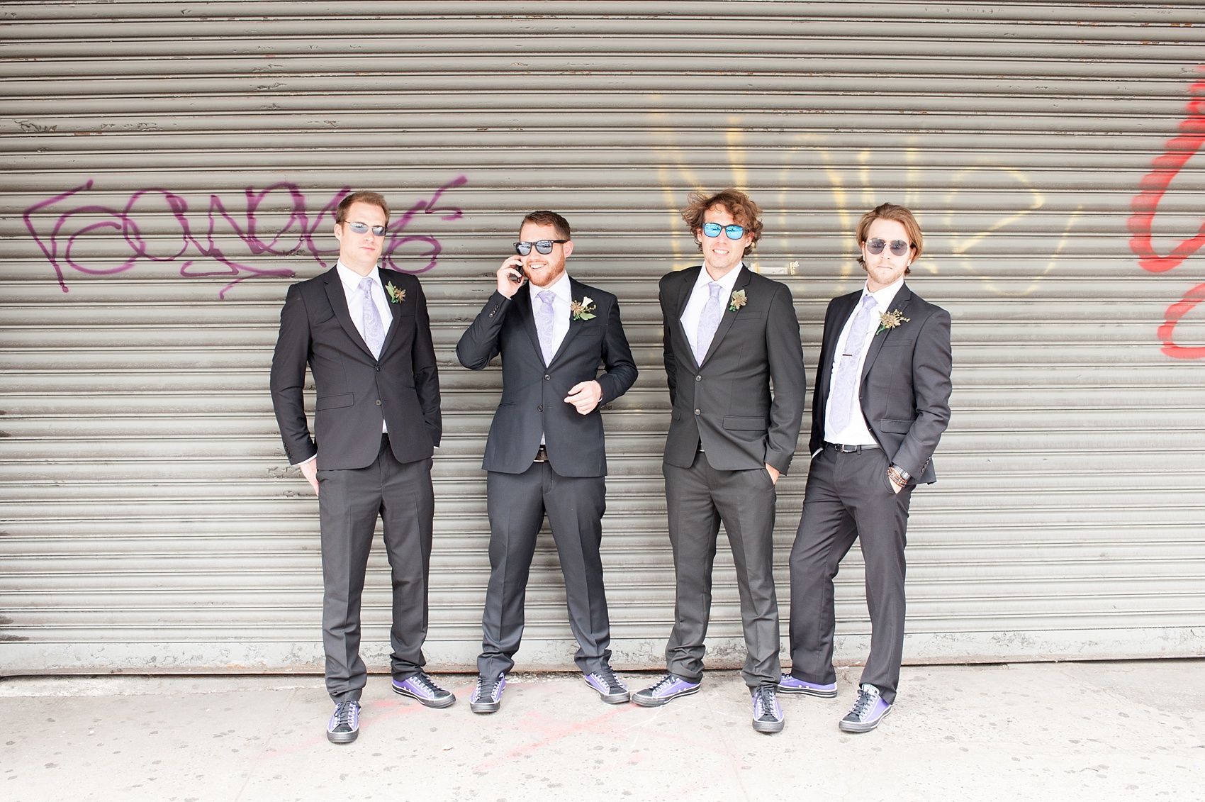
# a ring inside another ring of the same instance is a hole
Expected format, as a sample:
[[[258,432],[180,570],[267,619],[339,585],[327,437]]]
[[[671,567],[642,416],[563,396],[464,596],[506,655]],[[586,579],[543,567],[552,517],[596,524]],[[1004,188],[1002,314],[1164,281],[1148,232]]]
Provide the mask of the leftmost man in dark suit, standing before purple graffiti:
[[[343,198],[335,212],[339,263],[289,287],[272,356],[284,451],[318,494],[327,691],[335,702],[327,737],[334,743],[355,740],[359,731],[368,680],[360,596],[378,515],[393,572],[393,690],[428,707],[455,702],[423,672],[422,651],[440,379],[418,279],[377,268],[388,224],[380,194]],[[302,403],[306,363],[316,391],[313,438]]]

